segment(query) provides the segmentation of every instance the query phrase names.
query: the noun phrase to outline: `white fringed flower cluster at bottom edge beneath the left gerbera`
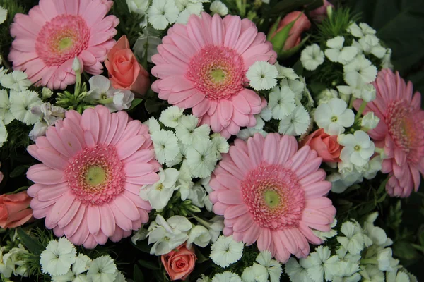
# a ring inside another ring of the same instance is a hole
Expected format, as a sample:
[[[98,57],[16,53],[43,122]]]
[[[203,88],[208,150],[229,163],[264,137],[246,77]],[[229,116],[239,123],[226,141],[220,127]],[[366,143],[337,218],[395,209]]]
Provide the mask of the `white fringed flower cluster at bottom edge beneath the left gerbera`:
[[[52,240],[40,255],[42,272],[52,276],[53,282],[126,282],[113,259],[104,255],[91,260],[76,249],[66,238]]]

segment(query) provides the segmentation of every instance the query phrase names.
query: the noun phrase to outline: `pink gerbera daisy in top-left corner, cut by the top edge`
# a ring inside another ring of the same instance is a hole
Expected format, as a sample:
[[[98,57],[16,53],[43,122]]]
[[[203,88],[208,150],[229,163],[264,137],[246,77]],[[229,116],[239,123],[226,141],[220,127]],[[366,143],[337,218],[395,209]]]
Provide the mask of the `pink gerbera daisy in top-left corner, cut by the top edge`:
[[[107,51],[115,44],[119,23],[107,16],[112,1],[40,0],[28,15],[16,14],[11,25],[8,59],[13,69],[25,71],[37,85],[65,89],[75,83],[75,57],[84,71],[100,75]]]

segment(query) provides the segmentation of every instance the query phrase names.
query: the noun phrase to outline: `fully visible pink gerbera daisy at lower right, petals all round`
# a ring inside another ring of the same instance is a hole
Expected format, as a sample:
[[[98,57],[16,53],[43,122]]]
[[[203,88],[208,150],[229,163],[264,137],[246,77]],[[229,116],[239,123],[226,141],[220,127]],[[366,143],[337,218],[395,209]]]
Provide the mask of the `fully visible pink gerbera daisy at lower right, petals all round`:
[[[280,262],[306,257],[308,242],[321,244],[312,229],[330,231],[336,209],[325,195],[331,183],[322,159],[309,146],[298,150],[293,136],[257,133],[235,140],[213,172],[213,212],[225,217],[224,235],[257,242]]]

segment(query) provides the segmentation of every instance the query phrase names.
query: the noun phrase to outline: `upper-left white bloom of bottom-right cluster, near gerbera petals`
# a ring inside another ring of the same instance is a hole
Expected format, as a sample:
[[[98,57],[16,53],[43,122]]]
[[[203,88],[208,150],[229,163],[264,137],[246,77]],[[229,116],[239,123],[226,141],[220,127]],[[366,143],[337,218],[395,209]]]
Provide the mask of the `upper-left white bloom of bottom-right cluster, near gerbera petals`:
[[[352,255],[358,255],[364,249],[364,236],[357,224],[346,221],[340,228],[346,237],[337,237],[338,243],[348,250]]]

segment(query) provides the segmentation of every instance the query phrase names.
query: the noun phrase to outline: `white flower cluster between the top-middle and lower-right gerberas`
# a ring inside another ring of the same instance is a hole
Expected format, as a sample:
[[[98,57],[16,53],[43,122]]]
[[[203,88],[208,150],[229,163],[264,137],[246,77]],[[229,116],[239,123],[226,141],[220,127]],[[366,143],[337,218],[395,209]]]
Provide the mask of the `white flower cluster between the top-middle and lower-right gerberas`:
[[[304,78],[299,77],[293,68],[285,68],[276,63],[272,66],[266,62],[256,62],[247,71],[247,78],[255,90],[271,90],[268,106],[257,114],[257,125],[240,130],[237,137],[247,140],[255,133],[266,135],[265,122],[271,118],[279,120],[278,132],[284,135],[302,135],[310,127],[310,114],[302,99],[313,104],[310,92],[306,88]],[[277,85],[280,79],[280,84]]]

